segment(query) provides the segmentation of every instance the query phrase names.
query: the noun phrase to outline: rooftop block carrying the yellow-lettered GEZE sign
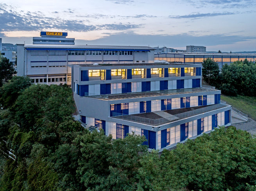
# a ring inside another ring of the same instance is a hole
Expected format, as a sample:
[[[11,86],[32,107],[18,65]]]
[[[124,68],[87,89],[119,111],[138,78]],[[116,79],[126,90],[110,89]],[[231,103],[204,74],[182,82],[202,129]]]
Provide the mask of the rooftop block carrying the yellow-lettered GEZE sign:
[[[66,32],[40,32],[41,37],[33,37],[33,44],[75,44],[75,39],[66,38]]]

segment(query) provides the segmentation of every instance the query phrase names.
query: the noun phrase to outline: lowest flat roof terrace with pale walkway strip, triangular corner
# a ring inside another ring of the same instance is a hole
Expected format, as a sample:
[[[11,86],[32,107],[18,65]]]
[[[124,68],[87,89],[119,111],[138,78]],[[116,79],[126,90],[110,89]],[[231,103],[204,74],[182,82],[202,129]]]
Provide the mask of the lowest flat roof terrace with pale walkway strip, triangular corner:
[[[217,109],[222,109],[225,107],[231,107],[231,106],[223,103],[219,103],[215,105],[205,105],[205,106],[156,111],[156,112],[141,113],[141,114],[113,116],[111,118],[122,119],[125,121],[132,121],[132,122],[147,124],[152,126],[160,126],[163,124],[178,121],[180,119],[193,117],[198,114],[210,112]]]

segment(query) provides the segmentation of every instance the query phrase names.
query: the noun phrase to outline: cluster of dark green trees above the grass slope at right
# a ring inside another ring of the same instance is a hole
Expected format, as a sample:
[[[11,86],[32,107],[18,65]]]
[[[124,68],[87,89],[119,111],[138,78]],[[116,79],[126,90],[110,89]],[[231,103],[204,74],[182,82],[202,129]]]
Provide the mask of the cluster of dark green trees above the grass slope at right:
[[[256,63],[235,61],[225,64],[218,72],[218,63],[207,58],[202,63],[202,76],[211,86],[216,86],[225,95],[256,96]]]

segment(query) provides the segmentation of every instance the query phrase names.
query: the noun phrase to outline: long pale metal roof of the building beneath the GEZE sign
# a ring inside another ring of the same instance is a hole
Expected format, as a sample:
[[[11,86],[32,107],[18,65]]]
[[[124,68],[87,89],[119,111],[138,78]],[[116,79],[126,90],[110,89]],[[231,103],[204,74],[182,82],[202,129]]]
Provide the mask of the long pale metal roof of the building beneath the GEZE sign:
[[[68,44],[25,44],[25,48],[59,48],[59,49],[129,49],[154,50],[149,46],[101,46],[101,45],[68,45]]]

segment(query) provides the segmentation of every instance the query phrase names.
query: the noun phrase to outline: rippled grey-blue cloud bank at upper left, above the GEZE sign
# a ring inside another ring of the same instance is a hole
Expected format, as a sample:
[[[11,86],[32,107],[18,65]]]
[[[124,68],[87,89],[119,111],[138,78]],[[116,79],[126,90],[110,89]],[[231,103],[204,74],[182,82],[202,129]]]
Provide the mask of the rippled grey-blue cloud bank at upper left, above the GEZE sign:
[[[0,4],[0,32],[7,31],[38,31],[45,29],[68,30],[76,32],[88,32],[93,30],[127,30],[140,28],[141,25],[131,23],[86,25],[83,19],[62,19],[59,17],[47,17],[42,12],[17,12],[14,9],[7,11],[6,4]],[[73,13],[68,9],[67,12]]]

